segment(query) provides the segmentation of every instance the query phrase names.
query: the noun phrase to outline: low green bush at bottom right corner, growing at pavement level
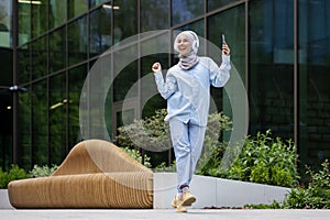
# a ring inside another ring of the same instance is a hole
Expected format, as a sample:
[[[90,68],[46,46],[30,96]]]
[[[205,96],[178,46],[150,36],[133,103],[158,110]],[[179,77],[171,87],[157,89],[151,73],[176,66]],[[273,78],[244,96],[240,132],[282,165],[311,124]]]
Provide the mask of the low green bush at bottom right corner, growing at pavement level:
[[[306,189],[299,187],[292,189],[284,202],[285,208],[297,209],[329,209],[330,208],[330,172],[329,162],[322,163],[322,169],[314,172],[307,167],[310,182]]]

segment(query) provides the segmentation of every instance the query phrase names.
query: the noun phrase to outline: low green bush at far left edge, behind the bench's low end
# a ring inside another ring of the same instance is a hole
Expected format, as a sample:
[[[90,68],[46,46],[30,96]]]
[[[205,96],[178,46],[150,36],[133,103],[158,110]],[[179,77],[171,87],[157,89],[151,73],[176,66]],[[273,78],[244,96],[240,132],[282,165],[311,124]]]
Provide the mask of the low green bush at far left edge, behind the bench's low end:
[[[29,175],[18,165],[11,165],[9,172],[3,172],[0,167],[0,189],[7,189],[8,184],[12,180],[28,178]]]

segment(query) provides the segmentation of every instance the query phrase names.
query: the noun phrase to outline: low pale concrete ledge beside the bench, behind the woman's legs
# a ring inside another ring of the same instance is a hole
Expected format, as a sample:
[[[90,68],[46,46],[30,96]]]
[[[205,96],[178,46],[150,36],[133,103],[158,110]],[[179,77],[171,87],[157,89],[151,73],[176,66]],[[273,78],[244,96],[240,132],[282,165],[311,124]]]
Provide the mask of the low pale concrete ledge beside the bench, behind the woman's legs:
[[[176,194],[176,173],[154,174],[154,209],[167,209]],[[195,175],[191,191],[197,197],[193,208],[242,207],[251,204],[280,202],[289,188]]]

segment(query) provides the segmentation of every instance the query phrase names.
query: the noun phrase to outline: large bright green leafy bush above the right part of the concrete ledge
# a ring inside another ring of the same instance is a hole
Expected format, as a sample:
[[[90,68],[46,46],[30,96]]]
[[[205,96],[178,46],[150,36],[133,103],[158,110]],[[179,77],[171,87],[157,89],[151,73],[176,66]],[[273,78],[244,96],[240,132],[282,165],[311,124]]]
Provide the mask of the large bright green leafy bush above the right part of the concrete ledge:
[[[248,136],[241,154],[228,173],[221,170],[218,175],[260,184],[294,187],[298,184],[298,155],[290,140],[272,139],[271,131],[257,133],[255,138]],[[221,169],[221,168],[219,168]]]

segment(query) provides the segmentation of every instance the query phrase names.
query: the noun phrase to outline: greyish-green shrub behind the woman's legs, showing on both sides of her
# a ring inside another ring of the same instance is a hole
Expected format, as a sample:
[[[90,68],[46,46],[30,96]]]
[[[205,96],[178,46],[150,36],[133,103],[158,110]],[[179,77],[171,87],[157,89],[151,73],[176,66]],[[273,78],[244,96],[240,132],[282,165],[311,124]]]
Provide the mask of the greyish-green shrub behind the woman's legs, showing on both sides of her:
[[[172,147],[168,122],[164,121],[167,114],[166,109],[155,111],[155,114],[143,120],[134,120],[129,125],[118,129],[119,135],[116,138],[117,145],[128,148],[138,148],[143,146],[151,152],[163,152]],[[197,167],[201,168],[206,164],[219,161],[213,156],[213,152],[223,148],[219,142],[220,131],[229,130],[231,122],[223,113],[212,113],[208,118],[208,128],[204,143],[202,157],[199,160]],[[134,142],[133,142],[133,141]],[[211,161],[210,161],[211,158]],[[209,162],[210,161],[210,162]],[[198,168],[198,169],[199,169]],[[173,165],[166,168],[163,163],[156,167],[156,170],[173,170]]]

